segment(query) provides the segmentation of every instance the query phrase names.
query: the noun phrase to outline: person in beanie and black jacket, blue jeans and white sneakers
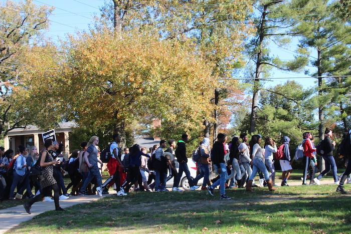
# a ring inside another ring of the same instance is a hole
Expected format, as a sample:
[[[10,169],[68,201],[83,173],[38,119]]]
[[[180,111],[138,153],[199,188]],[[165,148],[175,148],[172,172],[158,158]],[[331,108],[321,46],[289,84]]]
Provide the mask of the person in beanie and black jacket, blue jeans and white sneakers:
[[[332,131],[330,128],[325,128],[324,131],[324,139],[320,142],[320,153],[325,161],[325,169],[314,178],[313,181],[320,185],[320,179],[330,171],[333,170],[334,183],[339,185],[339,179],[337,177],[337,167],[335,163],[335,159],[333,156],[333,150],[335,149],[335,141],[331,141]]]

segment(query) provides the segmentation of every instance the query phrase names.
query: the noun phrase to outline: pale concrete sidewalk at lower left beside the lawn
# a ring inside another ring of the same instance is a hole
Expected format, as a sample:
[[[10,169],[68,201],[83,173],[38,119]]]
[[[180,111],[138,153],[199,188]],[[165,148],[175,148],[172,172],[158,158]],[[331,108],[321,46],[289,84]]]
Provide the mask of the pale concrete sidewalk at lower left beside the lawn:
[[[60,201],[60,206],[62,208],[67,208],[73,205],[95,201],[102,197],[98,195],[72,196],[67,200]],[[28,214],[25,208],[23,207],[23,205],[18,205],[7,209],[0,209],[0,234],[5,233],[6,231],[20,224],[21,222],[32,219],[34,216],[38,214],[41,214],[49,210],[54,210],[54,209],[55,209],[54,202],[43,202],[43,201],[36,202],[32,205],[32,208],[31,208],[32,214]]]

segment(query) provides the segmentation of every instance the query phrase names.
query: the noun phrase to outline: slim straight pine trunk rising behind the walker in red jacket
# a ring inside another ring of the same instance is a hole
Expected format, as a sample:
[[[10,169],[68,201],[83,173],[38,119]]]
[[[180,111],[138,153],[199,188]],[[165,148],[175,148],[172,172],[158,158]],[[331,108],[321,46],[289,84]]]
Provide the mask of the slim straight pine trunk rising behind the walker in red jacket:
[[[321,55],[320,55],[320,49],[317,49],[317,75],[318,75],[318,96],[322,96],[322,71],[321,71]],[[324,139],[324,107],[321,101],[319,100],[318,103],[318,120],[319,120],[319,126],[318,126],[318,137],[319,141]],[[325,169],[325,162],[323,157],[321,157],[321,163],[320,163],[320,171],[323,171]]]

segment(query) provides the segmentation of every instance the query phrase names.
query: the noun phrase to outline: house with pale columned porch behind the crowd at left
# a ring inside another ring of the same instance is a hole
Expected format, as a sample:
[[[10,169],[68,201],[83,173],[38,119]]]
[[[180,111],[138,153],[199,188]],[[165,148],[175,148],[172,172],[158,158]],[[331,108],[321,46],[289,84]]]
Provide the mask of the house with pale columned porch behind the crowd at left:
[[[64,154],[69,154],[70,142],[69,133],[77,127],[75,122],[62,122],[58,128],[55,128],[56,139],[59,143],[64,144]],[[16,128],[8,132],[4,139],[5,150],[12,149],[16,152],[19,145],[31,147],[35,145],[39,150],[44,148],[42,133],[45,131],[34,125],[28,125],[24,128]]]

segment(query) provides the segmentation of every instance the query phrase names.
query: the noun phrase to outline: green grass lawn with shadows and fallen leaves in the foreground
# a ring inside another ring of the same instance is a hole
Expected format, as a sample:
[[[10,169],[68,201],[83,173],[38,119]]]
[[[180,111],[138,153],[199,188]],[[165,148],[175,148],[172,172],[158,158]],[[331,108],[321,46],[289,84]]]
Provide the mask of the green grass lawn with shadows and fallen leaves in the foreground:
[[[351,189],[348,184],[346,189]],[[9,233],[349,233],[351,195],[334,185],[131,193],[49,211]]]

